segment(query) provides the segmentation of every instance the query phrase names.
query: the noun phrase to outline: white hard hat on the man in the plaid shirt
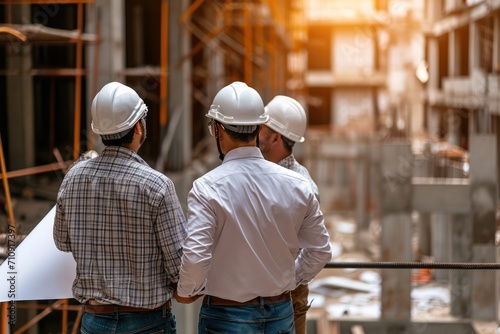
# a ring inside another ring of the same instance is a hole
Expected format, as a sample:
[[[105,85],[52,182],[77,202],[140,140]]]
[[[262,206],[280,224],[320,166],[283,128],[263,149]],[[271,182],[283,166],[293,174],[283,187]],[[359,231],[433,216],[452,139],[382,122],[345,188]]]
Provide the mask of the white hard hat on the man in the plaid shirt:
[[[119,139],[147,112],[148,107],[132,88],[110,82],[92,101],[92,131],[103,139]]]

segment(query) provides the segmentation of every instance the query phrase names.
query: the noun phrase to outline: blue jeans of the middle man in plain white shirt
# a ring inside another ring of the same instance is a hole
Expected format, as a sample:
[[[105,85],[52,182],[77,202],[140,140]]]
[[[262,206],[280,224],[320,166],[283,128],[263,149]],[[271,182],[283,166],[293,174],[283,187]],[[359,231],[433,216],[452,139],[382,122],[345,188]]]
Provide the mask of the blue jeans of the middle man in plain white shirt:
[[[198,334],[294,334],[290,300],[245,306],[203,305]]]

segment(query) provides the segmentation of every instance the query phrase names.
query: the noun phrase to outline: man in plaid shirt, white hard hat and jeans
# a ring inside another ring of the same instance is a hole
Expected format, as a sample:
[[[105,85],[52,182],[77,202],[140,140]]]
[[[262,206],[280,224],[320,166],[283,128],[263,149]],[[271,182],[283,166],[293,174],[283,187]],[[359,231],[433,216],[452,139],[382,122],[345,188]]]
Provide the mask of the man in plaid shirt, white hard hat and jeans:
[[[57,195],[54,241],[76,261],[82,333],[175,333],[185,217],[172,181],[137,154],[147,111],[132,88],[105,85],[91,108],[105,148],[74,164]]]

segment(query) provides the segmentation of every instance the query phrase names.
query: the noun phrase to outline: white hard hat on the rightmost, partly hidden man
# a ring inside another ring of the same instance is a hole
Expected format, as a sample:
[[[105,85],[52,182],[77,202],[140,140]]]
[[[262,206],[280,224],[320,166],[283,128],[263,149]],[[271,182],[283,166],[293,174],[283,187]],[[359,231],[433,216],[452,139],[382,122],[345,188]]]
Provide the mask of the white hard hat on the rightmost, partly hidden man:
[[[306,112],[297,100],[277,95],[266,105],[265,111],[269,116],[266,126],[296,143],[305,140]]]

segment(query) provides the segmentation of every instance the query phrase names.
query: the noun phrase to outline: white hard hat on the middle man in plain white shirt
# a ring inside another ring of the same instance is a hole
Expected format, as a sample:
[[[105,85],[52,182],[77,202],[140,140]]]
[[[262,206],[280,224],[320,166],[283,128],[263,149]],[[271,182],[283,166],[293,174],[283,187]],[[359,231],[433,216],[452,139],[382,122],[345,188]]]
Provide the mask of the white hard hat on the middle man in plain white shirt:
[[[205,115],[239,133],[251,133],[269,118],[259,93],[244,82],[233,82],[222,88]]]

